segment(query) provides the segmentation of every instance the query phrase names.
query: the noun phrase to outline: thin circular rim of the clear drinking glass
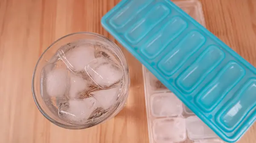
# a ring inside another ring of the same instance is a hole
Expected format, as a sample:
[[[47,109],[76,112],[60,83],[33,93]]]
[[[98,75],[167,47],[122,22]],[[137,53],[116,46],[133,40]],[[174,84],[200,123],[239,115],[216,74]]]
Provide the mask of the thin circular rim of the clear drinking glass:
[[[100,38],[106,40],[107,42],[110,42],[110,43],[119,51],[119,53],[121,53],[121,55],[119,55],[119,56],[122,56],[121,58],[122,58],[122,60],[124,60],[124,62],[121,61],[122,66],[123,66],[123,70],[124,70],[125,73],[128,74],[128,76],[126,77],[126,78],[127,78],[127,80],[126,80],[127,82],[124,83],[124,84],[127,84],[127,86],[129,86],[129,84],[130,84],[129,73],[128,73],[128,65],[127,65],[127,62],[126,62],[126,60],[125,60],[125,57],[124,57],[124,55],[123,55],[123,53],[122,53],[122,50],[119,48],[119,46],[116,45],[116,43],[114,43],[113,41],[111,41],[110,39],[108,39],[108,37],[105,37],[105,36],[103,36],[103,35],[101,35],[101,34],[92,33],[92,32],[75,32],[75,33],[71,33],[71,34],[67,34],[67,35],[65,35],[65,36],[62,36],[61,38],[58,38],[57,40],[55,40],[54,42],[52,42],[52,44],[50,44],[50,45],[47,47],[47,49],[44,50],[44,52],[40,55],[40,57],[38,58],[38,61],[37,61],[36,64],[35,64],[35,68],[34,68],[33,75],[32,75],[32,94],[33,94],[33,98],[34,98],[35,104],[36,104],[38,110],[41,112],[41,114],[44,115],[44,117],[47,118],[48,121],[54,123],[55,125],[57,125],[57,126],[59,126],[59,127],[64,128],[64,129],[85,129],[85,128],[90,128],[90,127],[92,127],[92,126],[98,125],[98,124],[100,124],[100,123],[102,123],[102,122],[108,120],[108,118],[110,118],[111,115],[113,115],[114,112],[115,112],[115,111],[118,109],[118,107],[119,107],[119,105],[115,104],[116,107],[111,109],[110,114],[107,114],[107,116],[105,116],[104,118],[102,118],[102,120],[98,120],[98,121],[96,121],[96,122],[92,122],[92,123],[88,123],[88,124],[86,124],[86,123],[84,123],[84,124],[72,124],[72,123],[70,123],[70,124],[64,124],[64,123],[60,123],[60,122],[58,122],[58,121],[55,121],[53,118],[51,118],[51,117],[44,111],[44,109],[42,109],[41,105],[39,104],[38,98],[37,98],[36,93],[35,93],[35,73],[36,73],[36,71],[37,71],[38,64],[41,62],[41,59],[42,59],[42,57],[44,56],[44,54],[45,54],[53,45],[55,45],[57,42],[61,41],[61,39],[67,38],[67,37],[69,37],[69,36],[77,35],[77,34],[86,34],[86,35],[91,35],[91,36],[98,36],[98,37],[100,37]],[[125,67],[127,67],[127,71],[125,70]],[[123,91],[123,93],[124,93],[124,94],[125,94],[125,93],[128,93],[128,89],[125,89],[125,90]],[[121,99],[122,99],[122,98],[121,98]],[[121,100],[121,99],[120,99],[120,104],[122,104],[123,102],[125,102],[125,100]],[[68,122],[67,122],[67,123],[68,123]]]

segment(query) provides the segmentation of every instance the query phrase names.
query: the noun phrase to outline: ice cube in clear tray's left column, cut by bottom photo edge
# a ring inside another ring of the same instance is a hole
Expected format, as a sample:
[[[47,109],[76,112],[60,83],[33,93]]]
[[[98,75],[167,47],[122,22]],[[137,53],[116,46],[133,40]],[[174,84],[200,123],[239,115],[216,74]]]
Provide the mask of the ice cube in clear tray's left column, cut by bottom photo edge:
[[[161,118],[154,120],[153,137],[157,143],[178,143],[185,141],[185,119]]]

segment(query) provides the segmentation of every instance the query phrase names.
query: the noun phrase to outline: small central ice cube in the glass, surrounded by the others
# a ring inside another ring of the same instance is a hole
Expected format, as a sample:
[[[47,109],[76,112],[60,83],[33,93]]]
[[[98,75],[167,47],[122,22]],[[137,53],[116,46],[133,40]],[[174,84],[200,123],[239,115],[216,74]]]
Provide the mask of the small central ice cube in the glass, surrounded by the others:
[[[74,74],[70,75],[70,98],[77,98],[81,92],[89,88],[89,82],[87,80]]]

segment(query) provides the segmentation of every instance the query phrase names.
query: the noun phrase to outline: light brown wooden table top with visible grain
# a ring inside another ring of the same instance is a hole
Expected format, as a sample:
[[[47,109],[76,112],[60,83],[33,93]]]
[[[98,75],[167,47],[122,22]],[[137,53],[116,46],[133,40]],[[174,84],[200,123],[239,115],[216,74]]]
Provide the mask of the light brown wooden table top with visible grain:
[[[149,143],[141,64],[122,48],[131,74],[127,106],[90,129],[61,129],[32,98],[32,73],[53,41],[78,31],[115,39],[101,17],[119,0],[0,0],[0,143]],[[209,31],[256,66],[256,0],[201,0]],[[121,46],[121,45],[119,45]],[[255,143],[256,126],[239,143]]]

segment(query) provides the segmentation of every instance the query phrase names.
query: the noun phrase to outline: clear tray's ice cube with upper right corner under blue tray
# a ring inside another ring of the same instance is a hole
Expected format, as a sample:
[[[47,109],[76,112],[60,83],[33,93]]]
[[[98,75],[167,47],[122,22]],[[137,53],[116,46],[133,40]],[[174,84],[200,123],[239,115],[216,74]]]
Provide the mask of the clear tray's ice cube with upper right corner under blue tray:
[[[156,93],[151,95],[151,112],[155,117],[172,117],[183,112],[182,102],[173,93]]]

